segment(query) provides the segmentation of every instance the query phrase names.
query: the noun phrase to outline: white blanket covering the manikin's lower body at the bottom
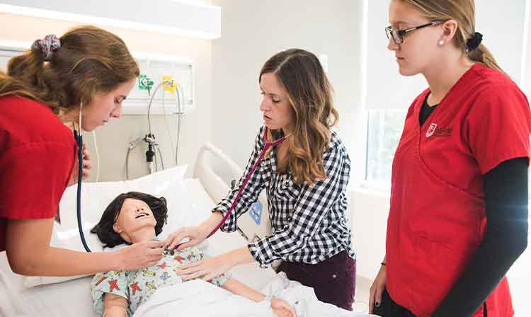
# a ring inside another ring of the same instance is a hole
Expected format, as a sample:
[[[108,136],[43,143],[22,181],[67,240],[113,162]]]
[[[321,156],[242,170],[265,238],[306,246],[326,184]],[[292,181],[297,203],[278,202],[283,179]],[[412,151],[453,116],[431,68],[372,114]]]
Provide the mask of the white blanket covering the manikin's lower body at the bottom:
[[[280,273],[264,289],[263,294],[277,296],[292,305],[297,316],[362,317],[371,316],[339,309],[319,301],[314,290],[293,282]],[[159,289],[133,317],[274,317],[270,301],[255,303],[234,295],[201,279]]]

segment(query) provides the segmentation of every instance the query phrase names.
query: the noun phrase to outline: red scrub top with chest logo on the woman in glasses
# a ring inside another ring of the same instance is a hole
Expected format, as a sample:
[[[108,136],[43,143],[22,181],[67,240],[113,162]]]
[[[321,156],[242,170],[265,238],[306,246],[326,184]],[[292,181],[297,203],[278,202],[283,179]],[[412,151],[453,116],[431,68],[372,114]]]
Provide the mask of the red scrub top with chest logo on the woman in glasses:
[[[386,288],[429,316],[464,271],[486,229],[483,175],[530,155],[527,98],[508,76],[474,64],[420,127],[429,90],[413,101],[392,167]],[[513,316],[507,279],[486,300],[489,317]],[[483,316],[483,307],[474,316]]]

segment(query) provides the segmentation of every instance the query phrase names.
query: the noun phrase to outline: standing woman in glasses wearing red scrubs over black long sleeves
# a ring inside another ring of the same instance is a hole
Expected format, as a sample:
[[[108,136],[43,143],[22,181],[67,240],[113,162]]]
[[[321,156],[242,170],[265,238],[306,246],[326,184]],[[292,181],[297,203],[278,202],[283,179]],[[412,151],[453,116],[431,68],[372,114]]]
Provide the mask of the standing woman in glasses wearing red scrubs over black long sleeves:
[[[530,106],[474,30],[474,1],[392,0],[411,104],[392,167],[379,316],[513,316],[506,272],[527,246]],[[503,25],[501,25],[503,28]]]

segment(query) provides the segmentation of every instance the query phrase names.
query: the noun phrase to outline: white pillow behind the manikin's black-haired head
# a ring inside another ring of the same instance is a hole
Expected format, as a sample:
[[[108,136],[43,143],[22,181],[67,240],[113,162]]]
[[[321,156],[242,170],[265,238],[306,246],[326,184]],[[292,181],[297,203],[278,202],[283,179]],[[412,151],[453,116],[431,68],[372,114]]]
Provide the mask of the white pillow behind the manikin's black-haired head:
[[[163,234],[168,235],[181,226],[199,224],[208,217],[213,202],[206,195],[195,194],[195,188],[200,186],[198,180],[185,180],[186,166],[176,166],[164,171],[149,174],[136,180],[119,182],[83,183],[81,185],[81,221],[84,235],[93,252],[103,250],[101,241],[96,234],[89,234],[90,229],[98,223],[105,207],[122,192],[146,192],[156,197],[165,197],[168,201],[168,224],[164,226]],[[55,224],[50,245],[57,248],[67,248],[84,252],[76,216],[77,186],[70,186],[64,191],[59,210],[61,225]],[[25,287],[40,284],[51,284],[77,279],[88,275],[73,277],[25,277]]]

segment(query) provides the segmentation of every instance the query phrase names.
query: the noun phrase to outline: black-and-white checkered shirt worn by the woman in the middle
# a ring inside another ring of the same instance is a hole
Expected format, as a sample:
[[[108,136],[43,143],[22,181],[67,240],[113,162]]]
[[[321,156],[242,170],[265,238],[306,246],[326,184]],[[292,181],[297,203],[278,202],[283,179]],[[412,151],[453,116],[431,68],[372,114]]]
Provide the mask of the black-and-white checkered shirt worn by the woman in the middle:
[[[251,171],[264,146],[263,130],[256,143],[244,175],[214,210],[226,214],[236,194]],[[222,231],[236,231],[236,219],[249,210],[265,188],[273,235],[249,243],[249,250],[261,266],[274,260],[297,263],[319,263],[346,250],[351,258],[350,228],[347,217],[346,188],[350,173],[347,150],[336,132],[331,134],[329,148],[323,157],[326,180],[313,186],[296,184],[290,174],[279,174],[275,149],[266,156],[241,192],[231,216]]]

